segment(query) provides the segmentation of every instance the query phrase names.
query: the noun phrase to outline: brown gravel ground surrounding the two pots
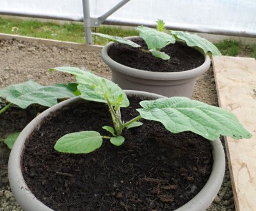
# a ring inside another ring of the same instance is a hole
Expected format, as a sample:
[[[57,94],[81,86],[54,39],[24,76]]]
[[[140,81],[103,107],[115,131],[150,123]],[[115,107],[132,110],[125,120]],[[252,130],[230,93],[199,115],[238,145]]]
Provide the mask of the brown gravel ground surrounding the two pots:
[[[0,88],[30,79],[42,85],[74,81],[72,76],[68,74],[47,72],[49,68],[55,66],[86,68],[97,75],[111,79],[111,72],[100,58],[99,51],[86,51],[84,48],[61,47],[38,42],[1,40],[0,38]],[[193,98],[208,104],[218,105],[212,68],[196,82]],[[1,138],[3,135],[0,134]],[[22,209],[13,198],[8,184],[9,153],[10,150],[0,142],[0,210],[18,211]],[[218,196],[207,210],[235,210],[228,166],[226,166],[225,178]]]

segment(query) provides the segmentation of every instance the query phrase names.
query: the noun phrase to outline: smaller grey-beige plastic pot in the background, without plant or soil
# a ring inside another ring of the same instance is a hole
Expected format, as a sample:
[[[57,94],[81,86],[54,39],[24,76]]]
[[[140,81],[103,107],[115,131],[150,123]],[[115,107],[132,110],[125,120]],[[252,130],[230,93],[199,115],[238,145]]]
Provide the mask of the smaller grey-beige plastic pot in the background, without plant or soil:
[[[136,38],[129,37],[129,38]],[[112,71],[112,81],[123,90],[140,90],[157,93],[166,97],[192,97],[196,79],[209,69],[211,60],[207,54],[204,55],[204,63],[191,70],[180,72],[149,72],[138,70],[129,66],[121,65],[108,55],[113,47],[109,42],[102,49],[101,55],[104,62]],[[172,59],[172,58],[171,58]]]

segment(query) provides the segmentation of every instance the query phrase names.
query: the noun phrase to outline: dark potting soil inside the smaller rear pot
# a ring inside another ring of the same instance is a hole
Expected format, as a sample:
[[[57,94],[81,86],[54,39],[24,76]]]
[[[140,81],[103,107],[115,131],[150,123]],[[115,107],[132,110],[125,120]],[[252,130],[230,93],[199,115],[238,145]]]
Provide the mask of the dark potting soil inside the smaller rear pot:
[[[186,71],[204,63],[203,54],[180,42],[167,45],[161,50],[171,57],[168,60],[163,60],[152,56],[151,53],[141,51],[141,48],[147,50],[147,45],[143,40],[132,41],[141,47],[134,48],[129,45],[114,43],[113,47],[109,48],[109,57],[122,65],[152,72]]]

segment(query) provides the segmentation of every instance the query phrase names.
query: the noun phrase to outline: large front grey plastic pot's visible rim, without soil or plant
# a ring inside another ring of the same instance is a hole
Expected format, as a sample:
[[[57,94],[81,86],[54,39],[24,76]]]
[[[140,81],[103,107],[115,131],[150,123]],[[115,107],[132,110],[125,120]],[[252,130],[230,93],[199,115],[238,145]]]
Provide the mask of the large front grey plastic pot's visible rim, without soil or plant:
[[[150,97],[152,99],[163,97],[161,95],[145,93],[143,91],[125,92],[127,93],[127,95]],[[42,118],[45,118],[53,111],[61,109],[61,107],[68,105],[70,103],[74,103],[77,100],[79,100],[79,97],[70,98],[68,100],[61,102],[60,104],[50,107],[40,115],[36,116],[36,118],[32,120],[25,127],[24,130],[22,130],[19,137],[15,141],[15,144],[13,145],[8,163],[8,177],[13,195],[15,196],[15,199],[18,201],[20,207],[22,207],[25,211],[50,211],[52,209],[44,205],[41,201],[39,201],[33,195],[33,193],[29,191],[29,188],[26,185],[26,182],[24,181],[20,167],[21,157],[24,151],[24,143],[31,134],[31,132],[36,128],[40,127],[40,122],[42,121]],[[209,207],[209,205],[211,205],[212,201],[216,197],[225,173],[225,154],[220,139],[212,141],[212,147],[214,163],[212,166],[212,173],[209,177],[209,180],[205,184],[204,188],[200,192],[198,192],[198,194],[196,194],[195,198],[191,199],[188,203],[178,208],[177,211],[205,210],[207,207]]]

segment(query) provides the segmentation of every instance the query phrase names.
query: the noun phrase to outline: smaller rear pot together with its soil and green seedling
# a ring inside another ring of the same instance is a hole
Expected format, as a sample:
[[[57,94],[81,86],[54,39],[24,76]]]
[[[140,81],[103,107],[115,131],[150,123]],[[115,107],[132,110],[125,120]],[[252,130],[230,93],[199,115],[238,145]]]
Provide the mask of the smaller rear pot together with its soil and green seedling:
[[[125,90],[191,98],[196,79],[211,64],[207,53],[221,55],[204,38],[166,31],[163,20],[157,20],[156,29],[137,30],[139,36],[128,38],[94,33],[112,41],[103,47],[102,59],[112,71],[112,81]]]

